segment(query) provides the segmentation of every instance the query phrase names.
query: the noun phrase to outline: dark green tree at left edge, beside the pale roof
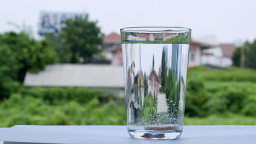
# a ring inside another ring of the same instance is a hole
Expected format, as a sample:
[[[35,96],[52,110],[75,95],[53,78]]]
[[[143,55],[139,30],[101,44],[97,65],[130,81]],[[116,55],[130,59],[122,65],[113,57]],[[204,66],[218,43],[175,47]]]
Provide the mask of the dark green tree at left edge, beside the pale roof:
[[[57,61],[55,51],[45,40],[30,39],[25,33],[0,34],[0,99],[8,97],[27,71],[38,72]]]

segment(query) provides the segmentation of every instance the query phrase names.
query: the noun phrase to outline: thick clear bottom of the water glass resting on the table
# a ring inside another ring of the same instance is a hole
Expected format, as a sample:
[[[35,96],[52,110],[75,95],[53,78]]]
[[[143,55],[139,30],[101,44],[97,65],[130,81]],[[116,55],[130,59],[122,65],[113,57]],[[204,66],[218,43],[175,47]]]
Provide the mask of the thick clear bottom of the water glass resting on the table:
[[[128,130],[128,133],[132,138],[135,139],[174,140],[181,136],[182,131]]]

